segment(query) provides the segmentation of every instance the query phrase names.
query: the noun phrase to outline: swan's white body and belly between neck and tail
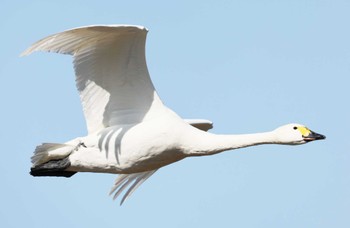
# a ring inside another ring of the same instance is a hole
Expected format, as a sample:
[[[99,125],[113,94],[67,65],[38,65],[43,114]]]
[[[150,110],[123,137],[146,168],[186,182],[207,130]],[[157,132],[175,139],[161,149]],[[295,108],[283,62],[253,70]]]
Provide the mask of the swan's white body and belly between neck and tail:
[[[81,140],[86,145],[69,157],[77,172],[136,173],[158,169],[185,158],[172,126],[115,126]],[[147,131],[151,129],[151,131]]]

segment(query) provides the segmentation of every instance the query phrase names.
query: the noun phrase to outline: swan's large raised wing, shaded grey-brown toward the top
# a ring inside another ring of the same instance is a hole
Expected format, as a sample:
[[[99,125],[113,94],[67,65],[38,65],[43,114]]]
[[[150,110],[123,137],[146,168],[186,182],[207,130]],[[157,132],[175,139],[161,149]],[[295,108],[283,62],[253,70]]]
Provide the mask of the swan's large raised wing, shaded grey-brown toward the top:
[[[76,28],[46,37],[22,53],[74,57],[76,85],[88,132],[138,123],[162,108],[145,60],[147,29],[112,25]]]

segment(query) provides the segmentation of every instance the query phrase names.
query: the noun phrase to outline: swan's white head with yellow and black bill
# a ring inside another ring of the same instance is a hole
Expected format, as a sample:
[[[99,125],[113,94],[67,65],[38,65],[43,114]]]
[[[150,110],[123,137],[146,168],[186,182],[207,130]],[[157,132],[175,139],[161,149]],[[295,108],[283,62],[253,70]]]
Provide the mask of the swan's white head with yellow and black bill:
[[[274,130],[278,143],[298,145],[325,139],[326,136],[315,133],[301,124],[287,124]]]

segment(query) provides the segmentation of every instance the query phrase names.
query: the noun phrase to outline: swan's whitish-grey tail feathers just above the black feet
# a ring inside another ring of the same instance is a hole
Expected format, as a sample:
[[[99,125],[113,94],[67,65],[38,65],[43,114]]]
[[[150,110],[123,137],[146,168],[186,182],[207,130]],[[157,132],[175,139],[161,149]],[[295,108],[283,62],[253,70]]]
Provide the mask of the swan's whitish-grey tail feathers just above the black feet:
[[[76,147],[59,143],[43,143],[35,148],[31,157],[33,167],[46,163],[50,160],[62,159],[70,155]]]

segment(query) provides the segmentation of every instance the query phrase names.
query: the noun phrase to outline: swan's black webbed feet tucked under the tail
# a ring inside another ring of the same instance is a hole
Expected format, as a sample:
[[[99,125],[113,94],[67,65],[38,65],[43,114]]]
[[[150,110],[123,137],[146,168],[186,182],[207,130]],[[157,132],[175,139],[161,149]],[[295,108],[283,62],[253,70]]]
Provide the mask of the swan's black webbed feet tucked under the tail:
[[[30,175],[34,177],[41,176],[54,176],[54,177],[71,177],[76,172],[65,171],[70,166],[70,161],[68,157],[60,160],[48,161],[44,164],[32,167],[30,169]]]

